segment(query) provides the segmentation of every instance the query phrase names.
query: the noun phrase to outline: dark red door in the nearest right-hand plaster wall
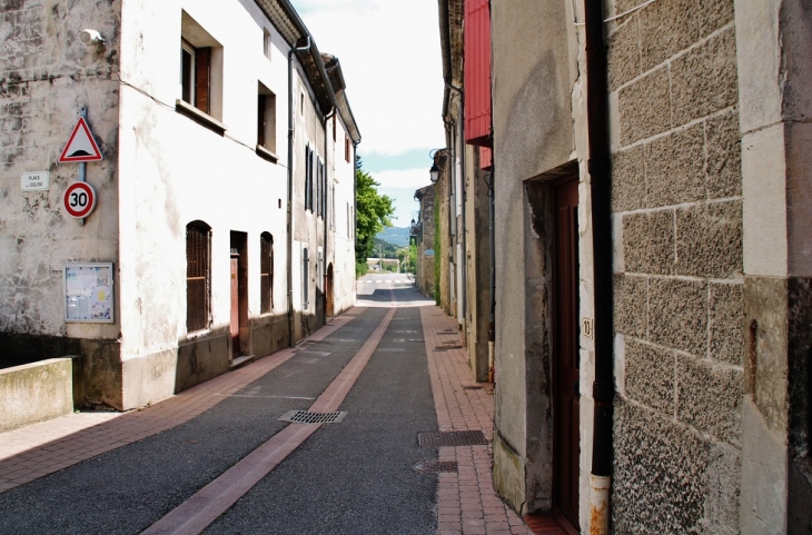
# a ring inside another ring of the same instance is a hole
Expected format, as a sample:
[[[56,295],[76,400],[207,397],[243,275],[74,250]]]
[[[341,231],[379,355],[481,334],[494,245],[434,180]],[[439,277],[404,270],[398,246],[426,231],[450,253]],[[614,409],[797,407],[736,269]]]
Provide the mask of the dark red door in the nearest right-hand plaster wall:
[[[578,180],[554,187],[554,479],[561,513],[578,525]]]

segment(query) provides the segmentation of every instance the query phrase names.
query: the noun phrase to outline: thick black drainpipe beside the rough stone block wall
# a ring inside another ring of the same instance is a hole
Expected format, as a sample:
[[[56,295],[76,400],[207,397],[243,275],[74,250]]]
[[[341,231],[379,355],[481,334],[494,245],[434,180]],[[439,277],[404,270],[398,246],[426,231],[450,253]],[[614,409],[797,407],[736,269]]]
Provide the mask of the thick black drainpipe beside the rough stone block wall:
[[[614,399],[612,318],[612,182],[608,141],[608,85],[603,34],[603,0],[584,0],[586,105],[592,195],[595,284],[595,402],[591,486],[592,534],[610,533],[612,419]]]

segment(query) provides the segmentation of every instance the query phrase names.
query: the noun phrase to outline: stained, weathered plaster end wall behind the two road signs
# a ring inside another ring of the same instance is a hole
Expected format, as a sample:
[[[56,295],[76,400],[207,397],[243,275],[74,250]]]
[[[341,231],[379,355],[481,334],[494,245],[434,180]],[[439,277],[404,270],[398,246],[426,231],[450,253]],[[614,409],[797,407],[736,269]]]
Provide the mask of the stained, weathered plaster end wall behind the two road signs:
[[[38,355],[61,357],[62,340],[112,341],[116,324],[66,323],[62,266],[118,261],[118,89],[120,2],[8,2],[0,13],[0,337],[33,335]],[[79,40],[96,28],[105,46]],[[87,181],[97,192],[96,210],[85,226],[62,207],[78,164],[58,164],[87,107],[88,123],[105,157],[87,164]],[[22,191],[20,174],[50,171],[47,191]],[[118,267],[118,266],[116,266]],[[115,288],[119,288],[116,276]],[[13,341],[13,340],[11,340]],[[8,348],[10,344],[4,343]],[[73,346],[75,344],[69,344]],[[88,357],[90,358],[90,357]],[[118,358],[116,357],[117,361]],[[101,365],[101,363],[97,363]],[[106,363],[107,364],[107,363]],[[120,365],[111,373],[120,377]],[[98,397],[115,404],[120,388],[100,385]]]

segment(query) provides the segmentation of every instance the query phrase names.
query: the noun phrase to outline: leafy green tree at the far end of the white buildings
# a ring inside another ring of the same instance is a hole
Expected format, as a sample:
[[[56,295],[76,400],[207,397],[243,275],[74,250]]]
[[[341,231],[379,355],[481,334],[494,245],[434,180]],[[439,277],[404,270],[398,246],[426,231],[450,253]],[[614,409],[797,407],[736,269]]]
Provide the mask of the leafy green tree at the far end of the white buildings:
[[[384,227],[392,227],[392,199],[378,194],[378,184],[372,175],[363,168],[360,158],[355,159],[355,217],[356,238],[355,258],[356,275],[365,273],[366,259],[373,254],[375,236]],[[362,267],[360,265],[364,265]]]

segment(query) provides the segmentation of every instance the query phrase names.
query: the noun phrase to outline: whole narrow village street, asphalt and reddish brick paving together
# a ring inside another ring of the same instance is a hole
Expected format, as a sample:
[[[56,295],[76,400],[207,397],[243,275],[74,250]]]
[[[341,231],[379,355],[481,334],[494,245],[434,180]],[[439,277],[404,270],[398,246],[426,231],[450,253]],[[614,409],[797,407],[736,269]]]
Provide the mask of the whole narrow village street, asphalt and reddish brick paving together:
[[[0,532],[529,533],[493,491],[492,390],[413,281],[368,275],[296,347],[141,410],[0,434]]]

